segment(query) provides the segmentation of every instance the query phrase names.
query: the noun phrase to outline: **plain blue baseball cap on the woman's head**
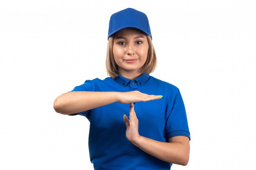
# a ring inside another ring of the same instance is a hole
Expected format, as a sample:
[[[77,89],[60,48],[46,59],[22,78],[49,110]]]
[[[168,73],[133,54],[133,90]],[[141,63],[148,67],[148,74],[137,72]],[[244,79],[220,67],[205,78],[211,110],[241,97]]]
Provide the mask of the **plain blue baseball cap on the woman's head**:
[[[117,13],[113,13],[109,21],[108,38],[117,31],[125,28],[139,29],[149,35],[152,39],[148,17],[141,11],[127,8]]]

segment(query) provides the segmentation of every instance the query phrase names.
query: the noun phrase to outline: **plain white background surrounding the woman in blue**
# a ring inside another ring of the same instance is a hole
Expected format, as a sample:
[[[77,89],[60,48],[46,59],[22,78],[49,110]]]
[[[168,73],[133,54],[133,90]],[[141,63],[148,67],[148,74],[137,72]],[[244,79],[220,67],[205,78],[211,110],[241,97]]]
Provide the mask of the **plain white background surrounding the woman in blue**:
[[[254,169],[256,1],[166,2],[0,1],[1,170],[93,170],[89,121],[53,102],[107,77],[109,18],[128,7],[149,18],[152,75],[180,88],[186,106],[190,160],[172,169]]]

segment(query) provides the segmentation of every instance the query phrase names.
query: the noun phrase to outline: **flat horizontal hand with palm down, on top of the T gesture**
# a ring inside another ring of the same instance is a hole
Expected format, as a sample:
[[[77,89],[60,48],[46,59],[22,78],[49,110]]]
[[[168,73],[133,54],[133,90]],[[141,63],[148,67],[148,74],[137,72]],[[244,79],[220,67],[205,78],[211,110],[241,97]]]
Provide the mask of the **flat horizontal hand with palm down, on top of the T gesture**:
[[[148,95],[139,91],[119,92],[118,102],[122,104],[134,103],[134,102],[147,102],[150,100],[161,99],[162,95]]]

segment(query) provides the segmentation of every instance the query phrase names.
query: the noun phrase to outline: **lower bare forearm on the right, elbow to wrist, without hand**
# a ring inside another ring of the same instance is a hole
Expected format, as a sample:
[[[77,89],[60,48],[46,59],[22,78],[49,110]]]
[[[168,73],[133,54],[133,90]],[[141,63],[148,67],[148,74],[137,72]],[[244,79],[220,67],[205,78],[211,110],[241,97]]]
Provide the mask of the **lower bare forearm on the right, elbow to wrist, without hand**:
[[[187,141],[189,143],[189,139]],[[186,166],[189,161],[189,144],[160,142],[139,136],[132,144],[162,161]]]

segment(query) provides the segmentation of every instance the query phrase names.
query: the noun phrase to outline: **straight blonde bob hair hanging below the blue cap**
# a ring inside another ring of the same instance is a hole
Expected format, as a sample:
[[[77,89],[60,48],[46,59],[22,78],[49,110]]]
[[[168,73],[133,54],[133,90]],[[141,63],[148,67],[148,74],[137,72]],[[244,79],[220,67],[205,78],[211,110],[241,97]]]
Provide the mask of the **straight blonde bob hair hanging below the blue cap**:
[[[155,48],[153,46],[150,36],[146,35],[148,40],[148,56],[145,64],[142,66],[142,73],[152,73],[157,66],[157,55],[155,53]],[[113,54],[113,44],[114,44],[114,35],[108,38],[108,48],[107,48],[107,57],[106,57],[106,69],[107,74],[111,78],[118,76],[118,66],[114,59]]]

